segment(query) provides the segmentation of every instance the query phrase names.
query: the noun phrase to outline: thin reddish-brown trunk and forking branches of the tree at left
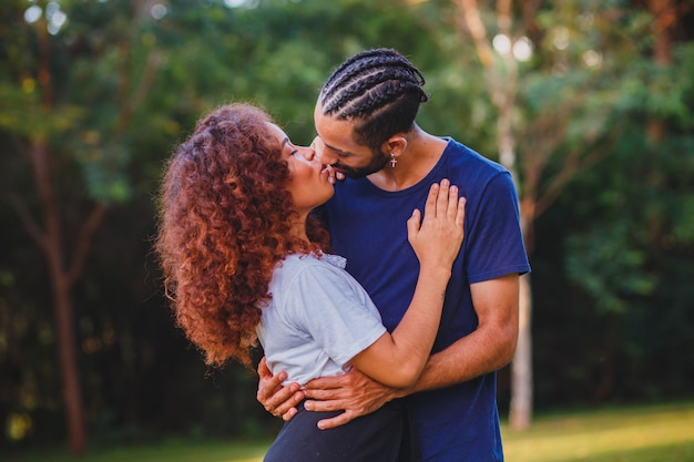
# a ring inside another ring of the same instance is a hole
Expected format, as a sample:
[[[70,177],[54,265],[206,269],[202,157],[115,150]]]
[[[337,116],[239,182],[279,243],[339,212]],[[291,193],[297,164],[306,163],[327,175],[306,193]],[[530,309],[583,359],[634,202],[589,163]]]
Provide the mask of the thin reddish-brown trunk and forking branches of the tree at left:
[[[131,2],[133,18],[146,18],[153,0],[134,0]],[[54,111],[53,85],[51,73],[51,41],[48,33],[45,16],[35,23],[38,33],[38,69],[37,81],[41,91],[41,109],[45,113]],[[132,111],[146,96],[154,82],[154,74],[161,63],[160,53],[154,50],[150,53],[147,65],[133,96],[131,93],[131,57],[127,41],[118,45],[121,58],[119,74],[119,100],[121,103],[119,119],[115,126],[116,136],[121,136],[127,129]],[[49,129],[50,130],[50,129]],[[22,201],[16,198],[12,203],[23,222],[28,233],[43,250],[52,286],[53,308],[57,324],[58,359],[62,376],[63,398],[65,405],[65,422],[68,428],[69,448],[73,453],[80,453],[86,448],[86,427],[82,402],[82,386],[79,370],[78,336],[75,332],[74,307],[71,290],[82,274],[82,268],[90,247],[91,237],[102,222],[106,212],[106,203],[96,202],[89,216],[81,224],[74,238],[74,246],[67,246],[63,242],[63,229],[60,223],[60,202],[53,187],[50,165],[50,150],[47,144],[48,132],[34,133],[29,143],[29,157],[34,170],[37,189],[43,217],[43,229],[31,217]],[[72,243],[72,242],[71,242]],[[72,248],[72,253],[68,249]]]

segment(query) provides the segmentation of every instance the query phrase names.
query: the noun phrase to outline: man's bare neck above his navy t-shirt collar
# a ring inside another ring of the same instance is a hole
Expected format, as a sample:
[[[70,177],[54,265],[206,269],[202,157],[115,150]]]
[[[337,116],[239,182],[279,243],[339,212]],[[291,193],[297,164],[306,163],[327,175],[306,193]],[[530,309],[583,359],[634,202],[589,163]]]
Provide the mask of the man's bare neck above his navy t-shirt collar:
[[[441,158],[446,145],[446,140],[430,135],[415,126],[408,133],[407,148],[397,157],[396,165],[391,166],[388,163],[367,178],[384,191],[401,191],[411,187],[431,172]]]

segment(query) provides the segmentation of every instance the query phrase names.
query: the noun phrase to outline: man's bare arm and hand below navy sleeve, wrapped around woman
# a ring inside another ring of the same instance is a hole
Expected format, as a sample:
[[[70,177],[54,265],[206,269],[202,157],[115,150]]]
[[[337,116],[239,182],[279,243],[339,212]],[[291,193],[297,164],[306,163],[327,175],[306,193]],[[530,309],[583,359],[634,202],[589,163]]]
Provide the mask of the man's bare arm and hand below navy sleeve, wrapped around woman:
[[[385,387],[356,370],[308,382],[305,392],[312,401],[305,403],[307,410],[345,410],[335,418],[322,420],[318,427],[339,427],[374,412],[395,398],[465,382],[508,365],[518,340],[519,276],[512,274],[477,283],[470,290],[478,328],[432,355],[411,389]]]

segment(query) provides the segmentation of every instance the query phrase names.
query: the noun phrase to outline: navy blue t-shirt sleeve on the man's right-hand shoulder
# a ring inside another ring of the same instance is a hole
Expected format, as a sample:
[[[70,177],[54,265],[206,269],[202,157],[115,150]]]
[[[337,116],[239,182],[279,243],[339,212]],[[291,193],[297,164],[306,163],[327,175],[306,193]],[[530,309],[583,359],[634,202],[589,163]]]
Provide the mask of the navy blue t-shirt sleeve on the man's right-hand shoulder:
[[[487,184],[470,212],[472,226],[465,237],[469,283],[530,271],[520,229],[518,195],[508,172],[496,175]]]

